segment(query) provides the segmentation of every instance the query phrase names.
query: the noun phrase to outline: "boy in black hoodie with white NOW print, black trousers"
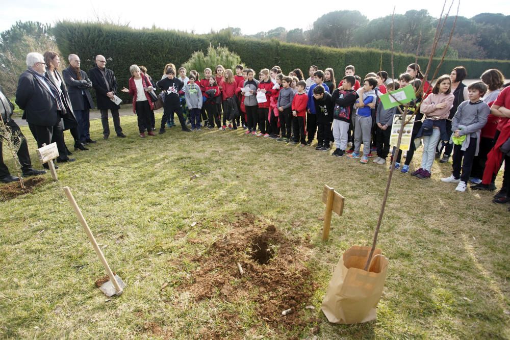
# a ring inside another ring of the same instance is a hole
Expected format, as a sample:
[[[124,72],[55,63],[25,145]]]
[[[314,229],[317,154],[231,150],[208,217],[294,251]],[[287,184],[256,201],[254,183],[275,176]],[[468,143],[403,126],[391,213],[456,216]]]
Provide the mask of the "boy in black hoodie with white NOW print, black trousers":
[[[317,85],[314,89],[315,113],[317,115],[317,147],[316,150],[329,150],[329,142],[333,142],[331,137],[331,123],[333,123],[333,99],[322,85]]]

